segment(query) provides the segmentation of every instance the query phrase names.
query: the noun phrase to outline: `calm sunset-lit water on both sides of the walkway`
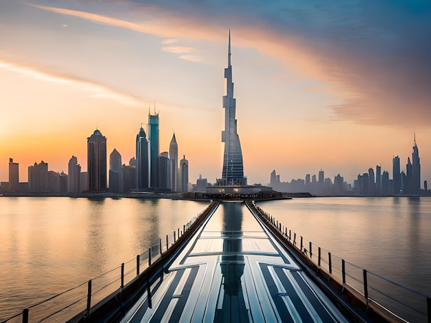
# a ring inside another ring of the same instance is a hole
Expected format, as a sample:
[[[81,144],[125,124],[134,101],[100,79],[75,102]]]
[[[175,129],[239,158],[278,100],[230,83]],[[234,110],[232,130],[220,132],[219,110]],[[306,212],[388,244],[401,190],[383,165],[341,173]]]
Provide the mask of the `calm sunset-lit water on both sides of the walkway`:
[[[135,258],[207,205],[169,199],[0,197],[0,320]],[[334,256],[431,294],[430,197],[330,197],[257,205]]]

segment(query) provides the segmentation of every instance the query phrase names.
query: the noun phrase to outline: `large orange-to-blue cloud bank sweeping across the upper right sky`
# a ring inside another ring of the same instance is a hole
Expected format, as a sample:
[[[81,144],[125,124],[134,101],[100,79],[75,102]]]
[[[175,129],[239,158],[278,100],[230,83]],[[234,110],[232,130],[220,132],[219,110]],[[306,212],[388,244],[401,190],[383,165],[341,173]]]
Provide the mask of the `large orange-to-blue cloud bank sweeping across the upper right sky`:
[[[287,69],[328,85],[339,100],[330,109],[341,119],[397,125],[428,125],[431,120],[427,1],[255,0],[246,5],[229,2],[229,12],[227,1],[122,3],[112,16],[38,8],[168,40],[226,41],[229,26],[235,46],[257,49]],[[127,19],[114,18],[125,8]],[[198,60],[193,55],[180,58]]]

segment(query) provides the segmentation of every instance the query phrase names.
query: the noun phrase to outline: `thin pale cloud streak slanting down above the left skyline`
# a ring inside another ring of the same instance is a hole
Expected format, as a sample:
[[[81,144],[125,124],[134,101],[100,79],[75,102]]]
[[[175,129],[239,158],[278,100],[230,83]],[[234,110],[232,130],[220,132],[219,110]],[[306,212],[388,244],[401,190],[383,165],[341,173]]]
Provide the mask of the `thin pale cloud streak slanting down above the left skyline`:
[[[48,68],[46,67],[30,67],[29,65],[8,60],[2,60],[0,58],[0,69],[13,71],[23,76],[34,78],[36,80],[41,80],[44,82],[52,82],[61,85],[73,85],[76,87],[81,87],[81,89],[89,93],[88,96],[90,98],[104,98],[109,100],[116,100],[117,102],[126,104],[130,107],[143,106],[142,100],[127,93],[122,93],[120,91],[105,87],[104,85],[97,84],[90,80],[84,80],[82,78],[75,78],[73,76],[67,76],[48,71]]]

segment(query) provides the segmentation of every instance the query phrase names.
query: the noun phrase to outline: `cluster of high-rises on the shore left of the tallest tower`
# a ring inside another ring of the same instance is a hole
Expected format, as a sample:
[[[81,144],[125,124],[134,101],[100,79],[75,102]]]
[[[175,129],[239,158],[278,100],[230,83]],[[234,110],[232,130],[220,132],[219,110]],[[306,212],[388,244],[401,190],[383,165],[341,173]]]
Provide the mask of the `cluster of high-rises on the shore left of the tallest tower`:
[[[19,164],[9,160],[9,181],[1,183],[3,192],[29,194],[80,194],[100,192],[188,192],[189,161],[178,160],[175,133],[167,151],[159,153],[158,113],[148,115],[148,138],[140,127],[136,135],[136,157],[122,164],[114,148],[107,168],[107,139],[96,129],[87,138],[87,172],[81,172],[78,159],[72,156],[67,170],[54,172],[41,161],[28,167],[28,182],[19,182]],[[108,183],[109,180],[109,183]]]

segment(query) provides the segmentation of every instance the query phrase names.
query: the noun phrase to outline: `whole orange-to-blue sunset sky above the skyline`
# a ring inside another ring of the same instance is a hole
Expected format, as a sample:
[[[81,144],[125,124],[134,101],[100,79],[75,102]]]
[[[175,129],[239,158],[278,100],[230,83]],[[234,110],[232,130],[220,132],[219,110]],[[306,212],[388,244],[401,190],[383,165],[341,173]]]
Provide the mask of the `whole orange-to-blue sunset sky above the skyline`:
[[[98,129],[123,164],[149,109],[160,153],[173,133],[189,181],[221,177],[231,30],[236,118],[249,183],[325,171],[348,183],[414,133],[431,180],[427,0],[0,0],[0,180],[42,160],[87,170]]]

